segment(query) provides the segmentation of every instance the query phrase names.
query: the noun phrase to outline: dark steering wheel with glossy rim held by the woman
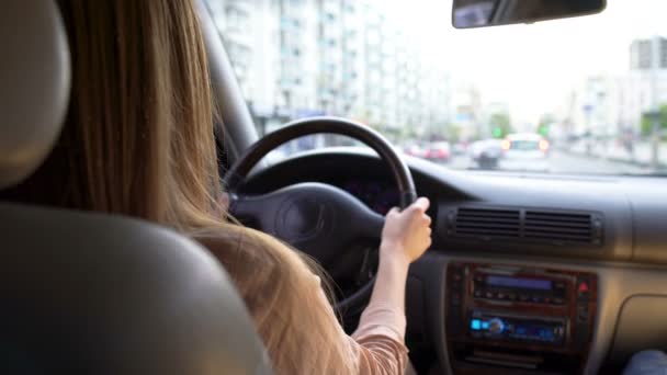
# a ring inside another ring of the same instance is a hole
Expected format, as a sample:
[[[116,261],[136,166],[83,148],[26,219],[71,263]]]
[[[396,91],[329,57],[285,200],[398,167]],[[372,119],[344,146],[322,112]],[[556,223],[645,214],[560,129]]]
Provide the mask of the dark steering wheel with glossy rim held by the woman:
[[[240,188],[248,173],[276,147],[313,134],[337,134],[357,139],[377,152],[391,169],[399,192],[400,208],[417,198],[412,175],[388,140],[359,123],[338,117],[309,117],[287,123],[252,145],[227,171],[229,212],[247,218],[256,229],[273,235],[327,265],[340,259],[352,243],[380,241],[384,217],[350,193],[336,186],[305,182],[263,195],[245,195]],[[368,300],[374,277],[336,303],[339,311]]]

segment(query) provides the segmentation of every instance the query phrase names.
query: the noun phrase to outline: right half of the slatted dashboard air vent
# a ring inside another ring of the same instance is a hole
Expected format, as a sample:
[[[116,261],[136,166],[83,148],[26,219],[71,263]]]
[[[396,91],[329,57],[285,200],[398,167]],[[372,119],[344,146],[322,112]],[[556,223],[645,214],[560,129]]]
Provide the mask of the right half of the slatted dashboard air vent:
[[[523,219],[527,239],[563,243],[599,245],[601,228],[601,221],[591,214],[527,211]]]

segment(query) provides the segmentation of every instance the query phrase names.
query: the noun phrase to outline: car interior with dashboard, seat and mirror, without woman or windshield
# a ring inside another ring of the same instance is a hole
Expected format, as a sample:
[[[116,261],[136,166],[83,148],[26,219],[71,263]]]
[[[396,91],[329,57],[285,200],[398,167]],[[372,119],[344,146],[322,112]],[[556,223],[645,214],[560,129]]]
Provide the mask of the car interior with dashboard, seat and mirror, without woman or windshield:
[[[620,374],[635,353],[667,349],[664,178],[454,170],[335,116],[260,137],[210,8],[195,2],[229,209],[325,268],[346,331],[371,294],[383,215],[427,196],[432,246],[406,285],[417,373]],[[525,3],[456,0],[452,22],[584,20],[606,5]],[[490,16],[466,16],[475,5]],[[0,7],[0,188],[9,188],[53,147],[71,71],[54,1]],[[267,157],[316,134],[365,147]],[[0,232],[2,373],[271,373],[224,269],[193,241],[136,219],[3,202]]]

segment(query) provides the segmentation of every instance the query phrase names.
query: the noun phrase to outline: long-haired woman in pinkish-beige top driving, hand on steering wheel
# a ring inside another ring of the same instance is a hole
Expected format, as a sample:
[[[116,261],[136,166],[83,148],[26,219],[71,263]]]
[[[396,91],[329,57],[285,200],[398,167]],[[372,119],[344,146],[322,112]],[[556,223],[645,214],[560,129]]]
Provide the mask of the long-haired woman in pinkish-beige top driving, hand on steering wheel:
[[[129,215],[199,240],[234,279],[278,374],[404,373],[405,284],[431,243],[428,200],[387,214],[371,302],[347,336],[317,266],[221,217],[211,82],[192,0],[57,2],[74,69],[66,124],[42,168],[3,195]]]

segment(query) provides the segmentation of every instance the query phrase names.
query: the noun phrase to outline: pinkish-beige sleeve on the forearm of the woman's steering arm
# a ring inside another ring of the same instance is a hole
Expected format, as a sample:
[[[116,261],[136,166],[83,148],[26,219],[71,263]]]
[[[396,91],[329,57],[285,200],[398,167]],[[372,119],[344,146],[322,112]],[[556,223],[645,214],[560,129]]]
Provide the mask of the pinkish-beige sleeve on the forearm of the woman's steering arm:
[[[328,304],[317,286],[320,298]],[[331,311],[334,314],[334,311]],[[348,345],[349,363],[328,364],[327,373],[343,373],[343,368],[357,368],[363,375],[403,375],[407,364],[407,348],[404,343],[405,314],[388,306],[370,306],[361,315],[357,331],[349,337],[339,326],[341,342]]]

